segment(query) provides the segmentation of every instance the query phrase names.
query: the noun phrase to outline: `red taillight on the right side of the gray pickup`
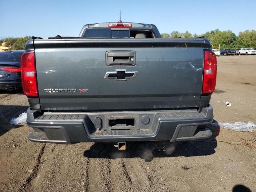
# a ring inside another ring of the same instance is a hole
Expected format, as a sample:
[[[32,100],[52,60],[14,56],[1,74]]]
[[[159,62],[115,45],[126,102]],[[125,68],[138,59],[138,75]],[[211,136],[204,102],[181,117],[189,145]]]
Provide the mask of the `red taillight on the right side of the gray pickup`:
[[[202,94],[212,94],[215,90],[217,77],[217,59],[214,52],[204,50],[204,74]]]

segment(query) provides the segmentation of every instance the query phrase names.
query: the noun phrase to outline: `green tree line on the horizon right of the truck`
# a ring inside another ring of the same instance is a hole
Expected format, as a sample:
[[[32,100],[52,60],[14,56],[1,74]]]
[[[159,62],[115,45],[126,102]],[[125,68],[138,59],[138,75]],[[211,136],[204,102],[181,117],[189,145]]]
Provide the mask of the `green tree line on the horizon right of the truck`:
[[[200,36],[207,37],[212,45],[220,45],[220,48],[256,48],[256,30],[245,30],[237,36],[232,30],[221,31],[219,29],[206,32],[204,34],[191,34],[186,31],[184,33],[173,31],[170,34],[162,33],[162,38],[196,38]]]

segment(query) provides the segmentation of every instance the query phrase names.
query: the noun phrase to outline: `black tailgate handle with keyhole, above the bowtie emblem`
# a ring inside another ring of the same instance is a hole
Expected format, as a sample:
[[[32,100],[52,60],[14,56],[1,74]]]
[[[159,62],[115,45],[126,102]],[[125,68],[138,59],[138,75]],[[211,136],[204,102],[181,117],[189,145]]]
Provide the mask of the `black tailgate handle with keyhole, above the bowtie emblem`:
[[[136,64],[135,51],[108,51],[106,52],[108,66],[134,66]]]

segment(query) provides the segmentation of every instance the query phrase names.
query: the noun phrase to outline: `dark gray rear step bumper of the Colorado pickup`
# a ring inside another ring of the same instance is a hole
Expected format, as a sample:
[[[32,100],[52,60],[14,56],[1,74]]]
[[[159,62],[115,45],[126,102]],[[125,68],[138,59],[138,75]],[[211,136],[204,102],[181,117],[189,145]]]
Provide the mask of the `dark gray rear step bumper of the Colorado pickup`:
[[[197,110],[130,112],[27,111],[27,124],[34,128],[34,142],[185,141],[212,136],[206,125],[213,120],[212,106]]]

